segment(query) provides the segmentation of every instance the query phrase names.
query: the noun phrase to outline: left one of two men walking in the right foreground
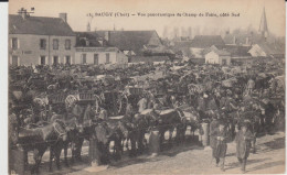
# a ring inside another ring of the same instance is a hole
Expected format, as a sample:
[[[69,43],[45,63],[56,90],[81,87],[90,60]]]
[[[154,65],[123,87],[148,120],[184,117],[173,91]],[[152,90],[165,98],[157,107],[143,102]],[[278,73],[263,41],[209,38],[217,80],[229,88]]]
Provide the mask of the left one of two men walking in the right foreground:
[[[226,144],[227,131],[223,121],[220,121],[219,128],[214,132],[214,135],[216,136],[216,145],[213,152],[214,153],[213,156],[216,160],[216,166],[219,166],[220,164],[221,171],[224,172],[225,171],[224,162],[225,162],[225,155],[227,151],[227,144]]]

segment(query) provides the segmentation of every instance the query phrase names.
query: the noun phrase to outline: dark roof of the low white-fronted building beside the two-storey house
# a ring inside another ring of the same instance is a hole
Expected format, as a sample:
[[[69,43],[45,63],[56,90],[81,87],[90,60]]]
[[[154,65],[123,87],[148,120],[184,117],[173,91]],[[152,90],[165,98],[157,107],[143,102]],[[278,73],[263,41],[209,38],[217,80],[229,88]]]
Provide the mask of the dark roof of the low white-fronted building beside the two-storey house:
[[[76,47],[103,47],[110,46],[104,37],[99,36],[95,32],[75,32],[76,34]],[[86,40],[89,45],[86,45]],[[103,44],[100,44],[103,41]]]

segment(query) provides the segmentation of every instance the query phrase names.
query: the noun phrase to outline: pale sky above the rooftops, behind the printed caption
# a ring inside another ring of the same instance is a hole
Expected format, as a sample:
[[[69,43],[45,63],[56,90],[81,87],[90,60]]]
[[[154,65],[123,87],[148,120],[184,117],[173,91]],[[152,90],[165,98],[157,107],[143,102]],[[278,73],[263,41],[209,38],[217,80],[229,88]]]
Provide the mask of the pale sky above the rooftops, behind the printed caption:
[[[9,13],[17,14],[20,8],[34,8],[35,17],[59,17],[67,13],[67,22],[74,31],[85,31],[88,13],[113,12],[113,17],[94,17],[92,30],[156,30],[161,36],[164,26],[200,26],[200,29],[259,29],[265,7],[269,32],[285,36],[284,0],[10,0]],[[115,13],[129,13],[117,17]],[[240,17],[138,17],[137,13],[240,13]],[[136,15],[131,15],[136,14]]]

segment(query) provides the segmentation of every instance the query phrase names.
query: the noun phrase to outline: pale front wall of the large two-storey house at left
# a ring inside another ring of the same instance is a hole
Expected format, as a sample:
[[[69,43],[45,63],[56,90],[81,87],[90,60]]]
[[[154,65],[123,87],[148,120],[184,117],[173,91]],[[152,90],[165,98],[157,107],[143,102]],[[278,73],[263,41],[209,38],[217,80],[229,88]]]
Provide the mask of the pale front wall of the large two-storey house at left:
[[[11,47],[12,37],[18,39],[18,50],[12,50]],[[46,40],[45,50],[40,48],[40,39]],[[59,40],[57,51],[53,50],[53,39]],[[65,50],[65,40],[71,40],[71,50]],[[75,54],[75,36],[9,34],[9,63],[12,64],[12,56],[18,56],[20,65],[38,65],[40,64],[40,56],[46,56],[46,64],[52,65],[53,56],[59,56],[60,63],[64,63],[65,56],[68,55],[71,56],[71,61],[73,64]]]

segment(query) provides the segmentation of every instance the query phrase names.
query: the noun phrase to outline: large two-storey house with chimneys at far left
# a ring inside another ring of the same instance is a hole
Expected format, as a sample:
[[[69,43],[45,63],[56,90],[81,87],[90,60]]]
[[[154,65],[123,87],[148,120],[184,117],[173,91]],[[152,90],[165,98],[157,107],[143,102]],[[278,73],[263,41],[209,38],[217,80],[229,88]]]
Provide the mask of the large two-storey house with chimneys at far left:
[[[76,36],[67,14],[30,17],[24,10],[9,15],[9,63],[20,65],[73,64]]]

